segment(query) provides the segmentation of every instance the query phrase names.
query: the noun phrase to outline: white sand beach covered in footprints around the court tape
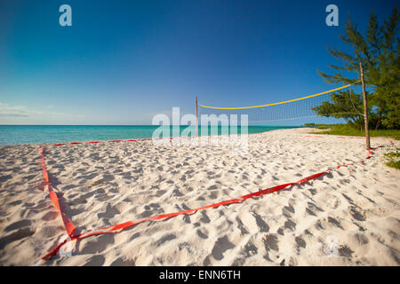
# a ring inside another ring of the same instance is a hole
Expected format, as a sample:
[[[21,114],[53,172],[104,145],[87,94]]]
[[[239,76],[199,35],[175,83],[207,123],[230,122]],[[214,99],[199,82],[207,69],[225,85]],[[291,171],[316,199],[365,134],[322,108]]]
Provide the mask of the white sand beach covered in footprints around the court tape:
[[[400,171],[388,138],[309,138],[313,129],[249,135],[249,151],[151,141],[44,145],[52,188],[81,232],[193,209],[354,166],[239,204],[145,222],[68,243],[44,186],[38,145],[0,146],[1,265],[399,265]],[[400,146],[399,141],[394,141]],[[65,246],[67,247],[67,245]]]

